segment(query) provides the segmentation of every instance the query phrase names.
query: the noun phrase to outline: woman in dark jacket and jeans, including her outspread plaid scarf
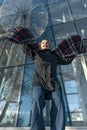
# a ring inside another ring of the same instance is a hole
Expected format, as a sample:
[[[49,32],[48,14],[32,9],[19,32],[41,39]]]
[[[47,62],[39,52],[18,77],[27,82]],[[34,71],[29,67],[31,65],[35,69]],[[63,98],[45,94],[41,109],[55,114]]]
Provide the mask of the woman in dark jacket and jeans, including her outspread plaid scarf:
[[[24,53],[35,62],[31,130],[45,130],[45,99],[51,100],[51,130],[65,130],[65,108],[56,70],[58,65],[70,64],[77,55],[87,53],[87,38],[72,35],[52,51],[47,40],[43,40],[38,46],[28,28],[13,27],[0,37],[0,48],[4,47],[1,42],[4,40],[24,45]]]

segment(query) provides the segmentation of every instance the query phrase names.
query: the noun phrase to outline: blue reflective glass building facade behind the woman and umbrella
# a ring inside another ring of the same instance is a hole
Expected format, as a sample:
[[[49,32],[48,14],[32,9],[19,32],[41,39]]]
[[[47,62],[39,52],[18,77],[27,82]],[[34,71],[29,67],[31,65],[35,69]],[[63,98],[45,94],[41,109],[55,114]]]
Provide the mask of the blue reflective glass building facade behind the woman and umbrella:
[[[3,1],[0,1],[0,4]],[[35,1],[38,4],[38,1]],[[54,49],[72,34],[87,36],[86,0],[41,0],[48,13],[47,27],[38,37],[49,40]],[[37,8],[38,9],[38,8]],[[38,16],[39,19],[39,16]],[[0,25],[1,26],[1,25]],[[3,32],[0,27],[0,34]],[[0,126],[27,127],[32,116],[33,61],[20,45],[3,43],[0,48]],[[66,111],[66,126],[87,125],[87,55],[80,55],[67,66],[58,66]],[[50,125],[50,101],[44,108],[46,126]]]

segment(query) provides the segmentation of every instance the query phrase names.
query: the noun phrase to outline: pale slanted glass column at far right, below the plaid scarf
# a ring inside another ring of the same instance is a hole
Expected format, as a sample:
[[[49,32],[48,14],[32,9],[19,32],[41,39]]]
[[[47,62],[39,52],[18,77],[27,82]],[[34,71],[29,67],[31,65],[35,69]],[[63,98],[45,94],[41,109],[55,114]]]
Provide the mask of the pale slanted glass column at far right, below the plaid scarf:
[[[75,74],[76,84],[79,93],[79,99],[81,103],[81,109],[83,114],[83,125],[87,125],[87,80],[84,74],[84,66],[81,63],[83,57],[78,57],[73,62],[73,71]]]

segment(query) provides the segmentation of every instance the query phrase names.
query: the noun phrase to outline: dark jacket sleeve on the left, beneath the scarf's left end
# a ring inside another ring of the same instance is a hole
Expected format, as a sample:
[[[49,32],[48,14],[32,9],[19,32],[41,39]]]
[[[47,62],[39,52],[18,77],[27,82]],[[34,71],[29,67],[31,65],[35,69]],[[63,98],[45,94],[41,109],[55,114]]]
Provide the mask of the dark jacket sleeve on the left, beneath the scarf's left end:
[[[22,50],[23,50],[23,52],[24,52],[26,55],[30,56],[30,58],[31,58],[32,60],[35,59],[36,51],[32,49],[32,46],[30,46],[30,45],[24,45],[24,46],[22,47]]]

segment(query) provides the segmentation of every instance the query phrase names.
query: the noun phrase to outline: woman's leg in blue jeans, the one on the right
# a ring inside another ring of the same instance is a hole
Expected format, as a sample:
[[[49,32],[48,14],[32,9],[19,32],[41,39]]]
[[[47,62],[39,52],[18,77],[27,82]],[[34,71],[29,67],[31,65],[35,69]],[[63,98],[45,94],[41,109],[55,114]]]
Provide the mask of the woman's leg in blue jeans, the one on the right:
[[[51,95],[51,130],[65,130],[65,108],[61,92],[56,90]]]

